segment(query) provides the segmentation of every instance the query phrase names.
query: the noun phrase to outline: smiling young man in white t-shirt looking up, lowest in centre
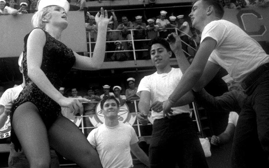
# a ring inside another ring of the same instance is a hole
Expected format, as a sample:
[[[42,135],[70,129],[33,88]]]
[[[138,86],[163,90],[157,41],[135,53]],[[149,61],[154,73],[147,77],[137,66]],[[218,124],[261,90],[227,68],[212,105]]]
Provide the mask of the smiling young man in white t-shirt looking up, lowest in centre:
[[[100,103],[105,123],[90,132],[87,139],[96,148],[104,168],[130,168],[133,161],[130,151],[143,164],[149,165],[148,156],[138,146],[138,138],[131,125],[119,122],[119,102],[106,96]]]

